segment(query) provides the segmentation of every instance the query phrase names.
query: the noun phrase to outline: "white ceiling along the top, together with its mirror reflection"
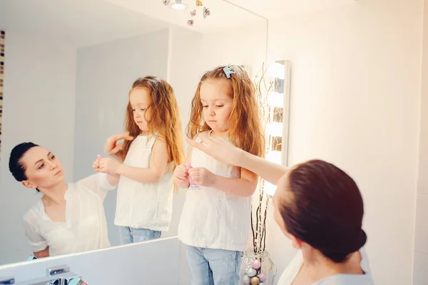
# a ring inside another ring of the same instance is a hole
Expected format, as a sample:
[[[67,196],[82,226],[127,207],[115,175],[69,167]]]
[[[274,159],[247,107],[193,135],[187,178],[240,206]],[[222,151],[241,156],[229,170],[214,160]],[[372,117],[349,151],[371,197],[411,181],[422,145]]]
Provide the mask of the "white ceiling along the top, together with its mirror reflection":
[[[0,29],[78,48],[146,34],[168,26],[211,33],[235,26],[265,25],[263,17],[280,19],[355,0],[201,1],[211,11],[206,19],[203,19],[203,7],[196,7],[195,0],[183,0],[188,4],[183,11],[170,9],[163,5],[163,0],[0,0]],[[190,16],[193,9],[197,9],[194,17]],[[188,19],[194,19],[193,26],[188,26]]]

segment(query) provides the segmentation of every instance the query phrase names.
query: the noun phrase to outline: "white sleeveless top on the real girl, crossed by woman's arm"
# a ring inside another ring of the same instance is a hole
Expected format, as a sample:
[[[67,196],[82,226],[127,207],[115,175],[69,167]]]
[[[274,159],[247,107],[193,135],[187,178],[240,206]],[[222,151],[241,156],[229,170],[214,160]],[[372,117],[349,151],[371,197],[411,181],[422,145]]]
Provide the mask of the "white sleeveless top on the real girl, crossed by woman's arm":
[[[223,164],[196,148],[191,165],[205,167],[220,176],[240,178],[240,168]],[[250,233],[250,213],[251,197],[230,196],[212,187],[189,188],[178,239],[189,246],[244,251]]]

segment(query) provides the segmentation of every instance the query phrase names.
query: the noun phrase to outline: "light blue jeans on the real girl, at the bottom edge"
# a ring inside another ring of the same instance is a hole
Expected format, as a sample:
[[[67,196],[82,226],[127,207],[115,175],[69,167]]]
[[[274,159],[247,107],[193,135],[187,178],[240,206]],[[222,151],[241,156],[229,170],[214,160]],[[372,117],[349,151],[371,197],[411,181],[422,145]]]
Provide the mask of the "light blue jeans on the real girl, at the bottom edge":
[[[187,246],[192,285],[238,285],[242,251]]]

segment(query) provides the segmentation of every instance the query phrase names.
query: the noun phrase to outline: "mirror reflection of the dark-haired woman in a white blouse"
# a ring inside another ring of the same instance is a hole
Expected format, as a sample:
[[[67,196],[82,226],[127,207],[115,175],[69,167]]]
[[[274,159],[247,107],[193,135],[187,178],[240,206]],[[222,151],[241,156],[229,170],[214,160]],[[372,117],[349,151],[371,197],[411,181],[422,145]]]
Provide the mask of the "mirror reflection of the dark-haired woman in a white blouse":
[[[113,189],[104,174],[66,184],[61,162],[29,143],[14,147],[9,169],[17,181],[44,194],[24,215],[26,236],[37,258],[110,246],[103,201]]]

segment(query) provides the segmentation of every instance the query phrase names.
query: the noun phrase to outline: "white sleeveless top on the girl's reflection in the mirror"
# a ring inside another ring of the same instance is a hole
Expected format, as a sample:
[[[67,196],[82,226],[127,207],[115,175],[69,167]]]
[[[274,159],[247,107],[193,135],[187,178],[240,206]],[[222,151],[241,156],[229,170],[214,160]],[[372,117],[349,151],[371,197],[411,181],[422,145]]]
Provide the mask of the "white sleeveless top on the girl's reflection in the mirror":
[[[149,168],[156,135],[137,136],[123,164]],[[116,201],[116,226],[168,231],[173,210],[173,171],[168,165],[158,183],[141,183],[121,176]]]

